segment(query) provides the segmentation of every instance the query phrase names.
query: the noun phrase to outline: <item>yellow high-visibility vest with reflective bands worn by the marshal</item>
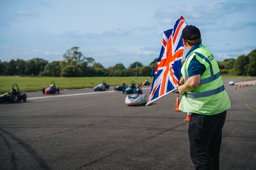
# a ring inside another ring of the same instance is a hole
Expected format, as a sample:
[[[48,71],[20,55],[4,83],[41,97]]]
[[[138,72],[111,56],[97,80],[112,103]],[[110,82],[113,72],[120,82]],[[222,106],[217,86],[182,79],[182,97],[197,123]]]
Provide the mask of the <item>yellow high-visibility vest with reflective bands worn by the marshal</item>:
[[[198,87],[184,93],[179,110],[202,115],[215,115],[231,108],[229,96],[221,80],[218,63],[206,47],[200,46],[187,56],[181,68],[185,83],[188,79],[189,63],[194,57],[205,65],[206,70],[200,77]]]

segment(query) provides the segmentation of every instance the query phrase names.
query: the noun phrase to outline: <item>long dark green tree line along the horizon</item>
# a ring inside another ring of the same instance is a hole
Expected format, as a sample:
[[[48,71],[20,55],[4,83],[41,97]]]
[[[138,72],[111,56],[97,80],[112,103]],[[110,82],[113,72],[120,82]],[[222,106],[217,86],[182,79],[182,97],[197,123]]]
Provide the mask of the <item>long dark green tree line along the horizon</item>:
[[[53,61],[34,58],[32,60],[11,60],[10,62],[1,62],[0,75],[19,75],[19,76],[53,76],[53,77],[96,77],[96,76],[134,76],[136,65],[138,65],[137,76],[150,76],[152,66],[157,64],[158,58],[155,58],[149,66],[144,66],[140,62],[130,64],[125,68],[122,63],[112,67],[104,68],[100,63],[96,63],[91,57],[85,57],[79,50],[79,47],[73,47],[67,50],[63,55],[64,60]],[[183,64],[182,61],[181,64]],[[256,50],[248,55],[241,55],[236,60],[226,59],[218,61],[221,74],[226,75],[250,75],[256,76]]]

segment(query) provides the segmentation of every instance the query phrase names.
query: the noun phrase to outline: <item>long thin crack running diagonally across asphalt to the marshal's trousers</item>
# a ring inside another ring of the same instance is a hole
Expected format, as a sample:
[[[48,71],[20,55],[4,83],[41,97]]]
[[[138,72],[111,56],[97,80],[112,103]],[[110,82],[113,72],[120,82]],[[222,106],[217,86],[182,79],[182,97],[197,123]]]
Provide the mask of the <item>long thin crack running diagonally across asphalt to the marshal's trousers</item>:
[[[169,130],[165,130],[165,131],[163,131],[163,132],[161,132],[161,133],[159,133],[159,134],[150,136],[148,139],[141,140],[141,141],[139,141],[139,142],[137,142],[137,143],[135,143],[135,144],[133,144],[133,145],[130,145],[130,146],[126,147],[126,148],[123,148],[123,149],[121,149],[121,150],[118,150],[118,151],[116,151],[116,152],[114,152],[114,153],[112,153],[112,154],[110,154],[110,155],[107,155],[107,156],[105,156],[105,157],[103,157],[103,158],[101,158],[101,159],[95,160],[95,161],[93,161],[93,162],[91,162],[91,163],[89,163],[89,164],[83,165],[82,167],[80,167],[80,168],[78,168],[78,169],[75,169],[75,170],[80,170],[80,169],[82,169],[82,168],[85,168],[86,166],[92,165],[93,163],[96,163],[96,162],[98,162],[98,161],[104,160],[104,159],[106,159],[106,158],[108,158],[108,157],[110,157],[110,156],[112,156],[112,155],[116,155],[116,154],[118,154],[118,153],[120,153],[120,152],[122,152],[122,151],[124,151],[124,150],[128,150],[129,148],[131,148],[131,147],[133,147],[133,146],[139,145],[139,144],[141,144],[141,143],[143,143],[143,142],[145,142],[145,141],[148,141],[148,140],[150,140],[150,139],[155,138],[155,137],[158,136],[158,135],[162,135],[162,134],[164,134],[164,133],[166,133],[166,132],[168,132],[168,131],[174,130],[174,129],[176,129],[177,127],[182,126],[182,125],[185,125],[185,124],[187,124],[187,123],[188,123],[188,122],[185,122],[185,123],[183,123],[183,124],[181,124],[181,125],[177,125],[177,126],[171,128],[171,129],[169,129]]]

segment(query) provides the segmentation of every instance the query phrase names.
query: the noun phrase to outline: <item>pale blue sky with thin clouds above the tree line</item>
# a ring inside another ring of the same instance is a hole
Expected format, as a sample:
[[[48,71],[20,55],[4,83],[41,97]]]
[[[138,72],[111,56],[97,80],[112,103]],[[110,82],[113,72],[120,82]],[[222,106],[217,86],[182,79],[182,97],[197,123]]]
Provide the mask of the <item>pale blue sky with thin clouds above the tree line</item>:
[[[255,0],[0,0],[0,60],[60,61],[78,46],[105,68],[149,65],[180,16],[219,61],[256,49]]]

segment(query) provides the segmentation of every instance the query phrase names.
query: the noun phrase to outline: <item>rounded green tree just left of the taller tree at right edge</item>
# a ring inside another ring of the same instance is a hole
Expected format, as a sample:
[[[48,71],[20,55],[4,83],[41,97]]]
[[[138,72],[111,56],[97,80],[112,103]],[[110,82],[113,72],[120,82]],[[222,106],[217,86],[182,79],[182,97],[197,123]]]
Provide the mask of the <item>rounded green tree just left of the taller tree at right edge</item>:
[[[249,64],[249,56],[240,55],[234,63],[235,75],[246,75],[245,66]]]

